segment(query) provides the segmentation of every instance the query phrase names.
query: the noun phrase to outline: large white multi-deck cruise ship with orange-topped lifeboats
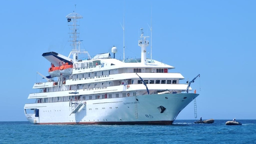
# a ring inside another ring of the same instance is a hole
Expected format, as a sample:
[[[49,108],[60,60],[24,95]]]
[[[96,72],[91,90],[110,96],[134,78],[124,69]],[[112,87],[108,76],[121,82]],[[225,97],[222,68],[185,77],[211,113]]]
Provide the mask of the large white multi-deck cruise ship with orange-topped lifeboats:
[[[46,52],[49,76],[36,82],[24,106],[33,124],[162,124],[170,125],[199,94],[190,93],[191,82],[181,84],[180,73],[168,72],[173,66],[146,58],[148,36],[141,36],[141,58],[115,58],[111,52],[90,54],[80,49],[76,12],[66,16],[72,50],[68,56]],[[113,55],[113,56],[111,56]],[[47,71],[46,70],[46,71]],[[46,72],[45,72],[46,73]],[[47,74],[47,75],[48,75]]]

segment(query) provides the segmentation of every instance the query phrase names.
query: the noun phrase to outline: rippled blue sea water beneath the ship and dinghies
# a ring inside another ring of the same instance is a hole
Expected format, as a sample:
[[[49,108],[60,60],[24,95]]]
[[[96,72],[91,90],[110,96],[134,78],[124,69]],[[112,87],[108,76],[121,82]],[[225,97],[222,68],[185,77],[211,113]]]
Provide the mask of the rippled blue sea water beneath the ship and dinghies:
[[[256,120],[228,120],[194,124],[175,120],[172,125],[35,125],[0,122],[0,144],[255,144]]]

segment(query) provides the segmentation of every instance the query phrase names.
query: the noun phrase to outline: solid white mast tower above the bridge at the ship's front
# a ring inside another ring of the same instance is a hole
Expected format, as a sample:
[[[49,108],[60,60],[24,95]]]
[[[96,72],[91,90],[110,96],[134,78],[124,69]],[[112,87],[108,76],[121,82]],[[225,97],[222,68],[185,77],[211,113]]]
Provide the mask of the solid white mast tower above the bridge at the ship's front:
[[[146,47],[148,46],[149,42],[146,38],[149,38],[149,36],[143,36],[143,28],[141,30],[141,36],[139,42],[139,46],[141,47],[141,63],[147,64],[146,59]]]

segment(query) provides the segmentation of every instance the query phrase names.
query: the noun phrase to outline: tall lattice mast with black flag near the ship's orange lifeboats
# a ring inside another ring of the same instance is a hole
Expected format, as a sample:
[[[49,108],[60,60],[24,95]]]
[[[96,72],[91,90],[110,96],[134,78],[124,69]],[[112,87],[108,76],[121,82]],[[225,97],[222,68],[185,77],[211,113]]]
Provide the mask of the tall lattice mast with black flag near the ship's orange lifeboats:
[[[69,33],[71,40],[69,40],[69,42],[72,42],[72,51],[70,52],[68,57],[70,58],[70,56],[73,55],[73,62],[78,62],[78,54],[87,54],[88,58],[91,59],[88,52],[80,49],[80,44],[82,40],[79,40],[80,25],[77,24],[77,20],[83,17],[80,14],[73,12],[71,14],[68,14],[66,18],[68,20],[68,27],[71,30],[71,32]]]

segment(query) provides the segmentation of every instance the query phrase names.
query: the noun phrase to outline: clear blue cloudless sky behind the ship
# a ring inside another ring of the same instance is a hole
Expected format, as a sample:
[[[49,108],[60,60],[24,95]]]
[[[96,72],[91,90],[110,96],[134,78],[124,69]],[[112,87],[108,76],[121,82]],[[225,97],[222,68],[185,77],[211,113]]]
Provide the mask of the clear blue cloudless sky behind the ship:
[[[40,72],[50,62],[42,53],[68,56],[66,15],[75,10],[80,20],[82,48],[90,55],[123,55],[125,17],[126,58],[139,58],[140,28],[150,36],[152,57],[174,66],[191,87],[198,118],[256,119],[256,1],[255,0],[5,0],[1,2],[0,121],[26,121],[24,104]],[[150,52],[150,46],[147,48]],[[198,119],[197,118],[197,119]],[[177,119],[195,119],[191,102]]]

